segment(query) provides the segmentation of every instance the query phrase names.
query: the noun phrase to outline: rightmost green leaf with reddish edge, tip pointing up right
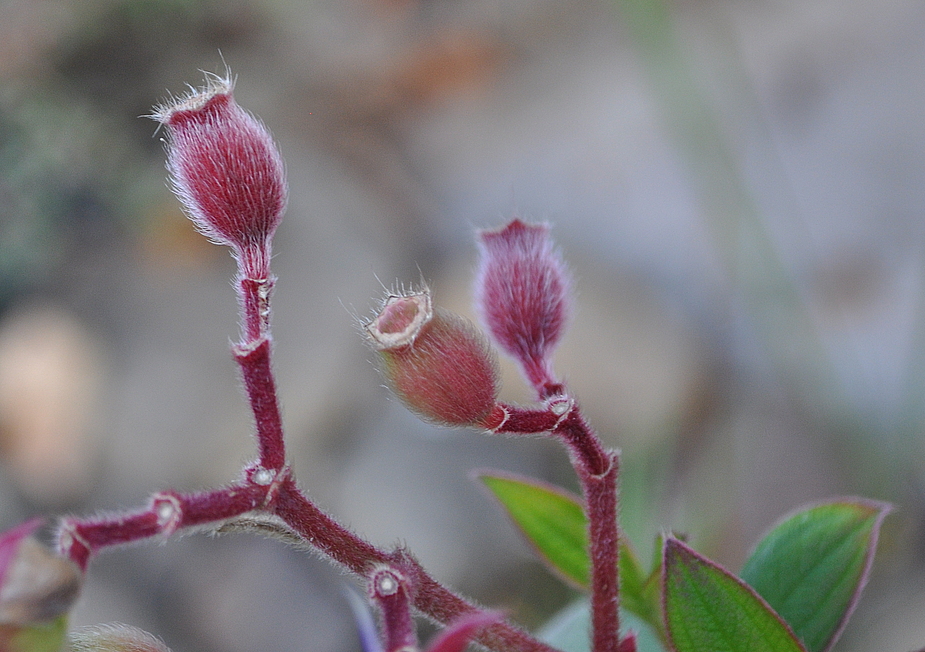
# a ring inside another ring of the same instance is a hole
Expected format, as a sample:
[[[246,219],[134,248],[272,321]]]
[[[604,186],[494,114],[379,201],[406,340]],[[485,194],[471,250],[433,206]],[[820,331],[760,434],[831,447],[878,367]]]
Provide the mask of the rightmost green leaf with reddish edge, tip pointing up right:
[[[840,500],[784,518],[745,562],[741,577],[811,652],[832,647],[857,604],[890,506]]]

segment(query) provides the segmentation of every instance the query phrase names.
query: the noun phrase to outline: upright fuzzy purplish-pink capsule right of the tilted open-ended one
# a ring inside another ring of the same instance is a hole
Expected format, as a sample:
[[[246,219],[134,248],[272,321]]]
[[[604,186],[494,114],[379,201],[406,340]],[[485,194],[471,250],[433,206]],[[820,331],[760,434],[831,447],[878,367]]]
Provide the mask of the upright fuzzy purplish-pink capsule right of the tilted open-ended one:
[[[488,332],[534,387],[553,383],[549,358],[568,317],[569,281],[549,226],[515,219],[479,234],[476,302]]]

